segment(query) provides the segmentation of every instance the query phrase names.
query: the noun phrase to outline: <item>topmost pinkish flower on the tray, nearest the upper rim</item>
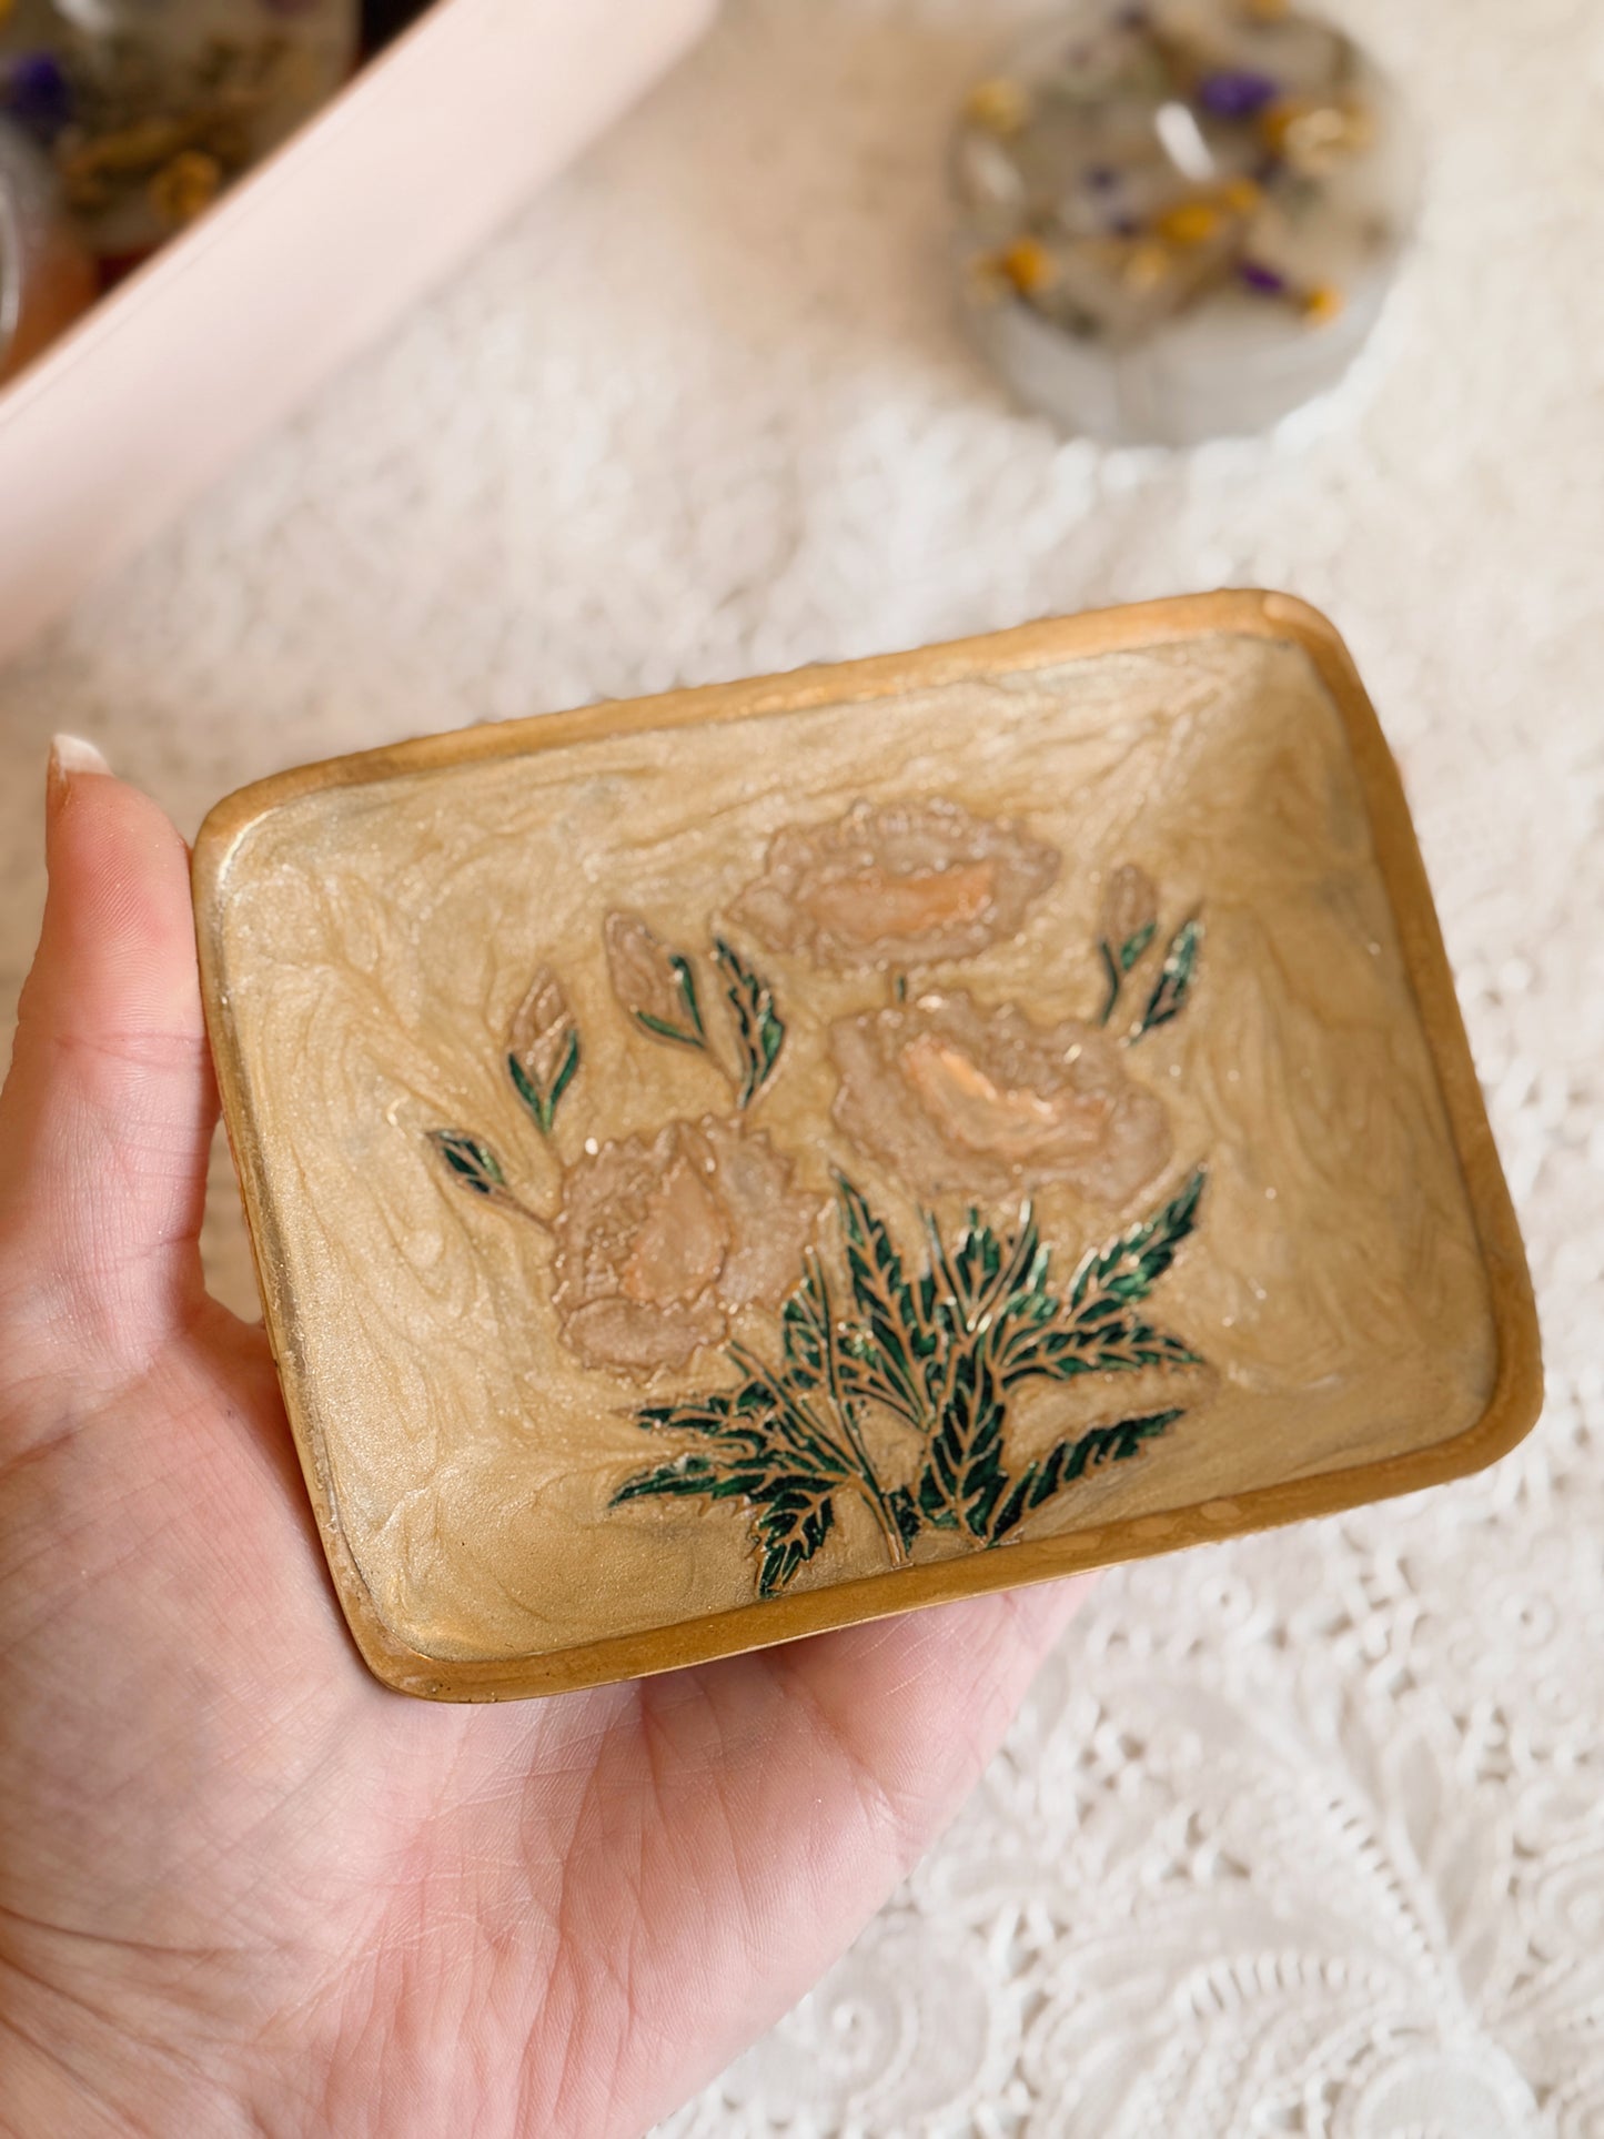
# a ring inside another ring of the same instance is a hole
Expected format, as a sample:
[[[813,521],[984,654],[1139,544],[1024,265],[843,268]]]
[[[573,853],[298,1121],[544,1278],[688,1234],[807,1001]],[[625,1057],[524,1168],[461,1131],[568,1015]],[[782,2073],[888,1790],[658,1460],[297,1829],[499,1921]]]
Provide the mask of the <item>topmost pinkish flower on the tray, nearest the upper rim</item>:
[[[840,973],[930,965],[1016,935],[1057,873],[1057,851],[1020,824],[954,802],[855,802],[778,832],[734,911],[770,950]]]

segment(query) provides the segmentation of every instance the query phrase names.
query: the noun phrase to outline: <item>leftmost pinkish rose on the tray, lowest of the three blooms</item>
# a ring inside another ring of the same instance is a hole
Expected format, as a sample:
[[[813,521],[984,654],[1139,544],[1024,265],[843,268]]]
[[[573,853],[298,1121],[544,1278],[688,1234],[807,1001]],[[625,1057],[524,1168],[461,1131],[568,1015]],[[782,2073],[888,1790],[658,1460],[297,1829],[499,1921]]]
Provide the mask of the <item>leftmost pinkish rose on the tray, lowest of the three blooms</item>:
[[[819,1204],[766,1136],[708,1117],[603,1144],[562,1181],[556,1311],[588,1367],[682,1367],[778,1307]]]

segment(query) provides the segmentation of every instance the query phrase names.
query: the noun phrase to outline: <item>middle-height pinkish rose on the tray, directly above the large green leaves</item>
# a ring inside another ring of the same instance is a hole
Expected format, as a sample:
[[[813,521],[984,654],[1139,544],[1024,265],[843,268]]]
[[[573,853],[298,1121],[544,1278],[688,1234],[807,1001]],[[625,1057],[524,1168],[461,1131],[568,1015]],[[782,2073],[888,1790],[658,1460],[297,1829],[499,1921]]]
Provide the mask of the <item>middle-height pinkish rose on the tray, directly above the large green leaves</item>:
[[[840,1129],[920,1194],[1001,1198],[1046,1183],[1123,1204],[1170,1157],[1163,1106],[1106,1033],[1016,1005],[922,997],[830,1031]]]

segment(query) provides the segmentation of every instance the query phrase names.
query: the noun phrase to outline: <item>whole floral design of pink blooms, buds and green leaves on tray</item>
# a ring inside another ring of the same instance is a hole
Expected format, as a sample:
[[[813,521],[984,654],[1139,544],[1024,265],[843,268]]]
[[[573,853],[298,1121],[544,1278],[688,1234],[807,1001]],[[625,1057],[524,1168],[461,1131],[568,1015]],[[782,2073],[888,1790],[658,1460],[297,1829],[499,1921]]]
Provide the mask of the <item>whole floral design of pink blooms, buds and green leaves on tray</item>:
[[[601,928],[618,1012],[642,1044],[706,1055],[727,1082],[723,1112],[565,1161],[556,1117],[582,1078],[584,1042],[543,969],[513,1018],[507,1074],[556,1166],[552,1196],[537,1206],[515,1194],[500,1155],[471,1132],[432,1132],[449,1181],[550,1236],[552,1305],[584,1365],[678,1378],[723,1348],[725,1371],[697,1375],[701,1392],[637,1405],[635,1422],[667,1448],[618,1482],[612,1506],[736,1504],[759,1596],[828,1549],[847,1502],[868,1512],[892,1566],[997,1546],[1185,1416],[1153,1390],[1183,1378],[1185,1392],[1204,1363],[1148,1320],[1148,1301],[1198,1226],[1204,1170],[1159,1191],[1174,1138],[1129,1057],[1187,1007],[1200,918],[1159,948],[1157,886],[1133,864],[1112,871],[1086,1018],[1042,1025],[980,988],[909,988],[909,973],[1014,939],[1057,875],[1059,853],[1024,826],[954,802],[860,802],[832,824],[787,828],[706,952],[669,945],[639,913],[610,913]],[[761,958],[734,937],[755,939]],[[830,1114],[909,1196],[907,1215],[877,1211],[847,1170],[832,1198],[811,1191],[753,1127],[785,1055],[785,1018],[759,971],[770,956],[890,975],[890,1003],[864,1003],[828,1031]],[[1151,1206],[1061,1275],[1033,1213],[1050,1187]],[[952,1194],[973,1209],[943,1230],[924,1204]],[[1138,1407],[1082,1422],[1029,1461],[1012,1452],[1024,1384],[1095,1375],[1106,1392],[1131,1373],[1144,1378]]]

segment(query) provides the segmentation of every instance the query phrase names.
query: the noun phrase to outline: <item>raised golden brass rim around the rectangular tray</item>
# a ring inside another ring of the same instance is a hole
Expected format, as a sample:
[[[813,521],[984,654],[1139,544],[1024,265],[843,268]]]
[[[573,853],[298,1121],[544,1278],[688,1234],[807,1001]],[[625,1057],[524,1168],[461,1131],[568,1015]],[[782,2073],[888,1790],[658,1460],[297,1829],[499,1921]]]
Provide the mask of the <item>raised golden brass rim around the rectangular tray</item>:
[[[973,676],[1059,667],[1065,661],[1093,655],[1208,635],[1262,637],[1300,646],[1341,714],[1371,821],[1377,868],[1399,928],[1405,973],[1448,1112],[1486,1271],[1497,1337],[1497,1373],[1482,1416],[1446,1442],[1379,1457],[1349,1469],[1317,1472],[1281,1484],[1255,1487],[1247,1493],[1219,1495],[1168,1514],[1125,1517],[1071,1536],[1012,1544],[1005,1553],[967,1553],[962,1559],[945,1559],[935,1566],[885,1570],[834,1583],[828,1589],[740,1604],[699,1619],[635,1634],[614,1634],[569,1649],[456,1660],[428,1656],[398,1638],[374,1606],[334,1502],[323,1435],[308,1399],[293,1303],[280,1281],[282,1258],[276,1253],[267,1211],[263,1155],[250,1127],[237,1035],[222,984],[227,871],[250,828],[287,802],[329,787],[374,785],[404,774],[494,757],[522,757],[603,736],[796,712],[845,699],[892,697]],[[1292,595],[1221,590],[1093,610],[1082,616],[1044,618],[1009,631],[952,640],[911,652],[811,665],[787,674],[704,684],[652,697],[605,699],[573,712],[466,727],[299,766],[242,787],[212,809],[195,841],[192,890],[207,1037],[284,1410],[351,1634],[374,1677],[398,1692],[432,1701],[505,1701],[573,1692],[584,1686],[740,1656],[928,1604],[1016,1589],[1035,1581],[1057,1581],[1189,1544],[1219,1542],[1311,1517],[1341,1514],[1347,1508],[1446,1484],[1482,1469],[1508,1455],[1531,1431],[1542,1410],[1542,1345],[1525,1247],[1476,1078],[1403,783],[1347,646],[1326,616]]]

